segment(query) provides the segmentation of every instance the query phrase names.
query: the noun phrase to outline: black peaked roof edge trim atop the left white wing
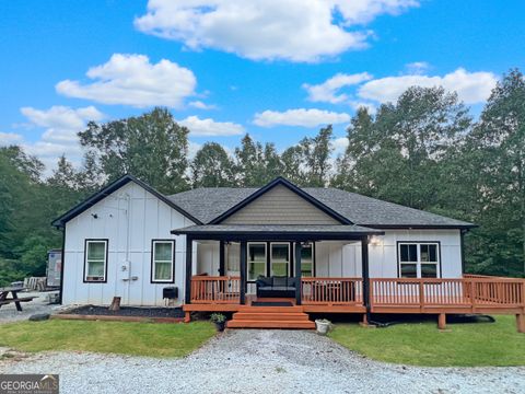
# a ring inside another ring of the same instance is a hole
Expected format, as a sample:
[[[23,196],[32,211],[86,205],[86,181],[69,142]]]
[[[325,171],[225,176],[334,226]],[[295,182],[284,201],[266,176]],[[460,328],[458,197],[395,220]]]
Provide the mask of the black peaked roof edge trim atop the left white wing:
[[[126,174],[122,177],[118,178],[117,181],[110,183],[109,185],[105,186],[102,188],[100,192],[93,194],[92,196],[88,197],[84,201],[78,204],[73,208],[71,208],[69,211],[60,216],[59,218],[55,219],[51,222],[51,225],[55,225],[56,228],[63,228],[65,224],[73,219],[74,217],[79,216],[80,213],[84,212],[89,208],[93,207],[96,202],[101,201],[102,199],[106,198],[109,196],[112,193],[118,190],[120,187],[127,185],[129,182],[133,182],[140,187],[144,188],[147,192],[151,193],[153,196],[159,198],[161,201],[167,204],[171,208],[175,209],[178,211],[180,215],[184,215],[186,218],[191,220],[192,222],[197,224],[201,224],[202,222],[198,219],[196,219],[194,216],[188,213],[186,210],[182,209],[178,207],[174,201],[168,199],[166,196],[162,195],[161,193],[156,192],[153,187],[150,185],[143,183],[142,181],[136,178],[132,175]]]

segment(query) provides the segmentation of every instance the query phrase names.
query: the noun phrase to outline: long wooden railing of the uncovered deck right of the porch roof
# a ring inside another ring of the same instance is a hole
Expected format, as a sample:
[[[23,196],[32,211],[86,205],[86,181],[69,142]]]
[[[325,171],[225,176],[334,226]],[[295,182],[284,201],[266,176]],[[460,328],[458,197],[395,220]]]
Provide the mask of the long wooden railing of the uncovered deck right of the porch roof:
[[[371,304],[415,306],[525,306],[525,280],[497,277],[460,279],[370,279]]]

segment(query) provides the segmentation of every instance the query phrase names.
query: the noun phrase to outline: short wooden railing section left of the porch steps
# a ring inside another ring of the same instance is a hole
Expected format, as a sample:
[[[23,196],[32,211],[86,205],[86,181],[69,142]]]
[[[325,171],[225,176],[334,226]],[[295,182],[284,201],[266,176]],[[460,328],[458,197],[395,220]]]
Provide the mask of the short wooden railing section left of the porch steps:
[[[240,277],[194,276],[191,303],[240,303]]]

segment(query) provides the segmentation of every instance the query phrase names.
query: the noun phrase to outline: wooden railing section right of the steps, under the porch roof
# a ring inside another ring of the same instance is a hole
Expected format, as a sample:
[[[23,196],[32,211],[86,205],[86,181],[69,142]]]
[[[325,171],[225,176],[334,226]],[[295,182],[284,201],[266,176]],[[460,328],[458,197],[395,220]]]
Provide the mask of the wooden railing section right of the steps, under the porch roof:
[[[302,278],[303,304],[359,304],[363,301],[362,278]]]

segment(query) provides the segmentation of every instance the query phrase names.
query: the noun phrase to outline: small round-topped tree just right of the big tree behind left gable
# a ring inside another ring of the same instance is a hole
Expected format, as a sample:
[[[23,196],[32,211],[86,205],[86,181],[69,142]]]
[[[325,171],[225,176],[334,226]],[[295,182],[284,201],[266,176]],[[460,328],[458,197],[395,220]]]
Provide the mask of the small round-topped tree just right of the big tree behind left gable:
[[[224,148],[207,142],[191,162],[192,187],[224,187],[234,185],[234,164]]]

